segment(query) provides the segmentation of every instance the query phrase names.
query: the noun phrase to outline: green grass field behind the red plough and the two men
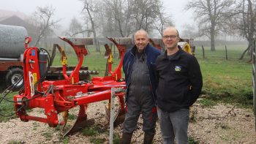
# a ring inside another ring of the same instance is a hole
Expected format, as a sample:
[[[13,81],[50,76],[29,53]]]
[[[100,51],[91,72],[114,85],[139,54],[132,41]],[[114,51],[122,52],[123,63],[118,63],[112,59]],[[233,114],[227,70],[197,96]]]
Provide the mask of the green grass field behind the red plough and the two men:
[[[249,61],[247,55],[243,60],[238,60],[245,48],[246,45],[227,45],[227,60],[225,59],[225,46],[217,47],[214,52],[205,47],[206,58],[203,58],[202,48],[196,48],[195,56],[203,74],[202,95],[207,98],[203,101],[203,104],[212,105],[222,101],[252,108],[252,64],[247,62]],[[75,66],[77,64],[75,52],[67,49],[66,53],[68,66]],[[103,47],[101,48],[101,54],[96,52],[94,48],[89,48],[89,55],[84,58],[83,67],[97,70],[99,76],[103,76],[107,61],[104,58],[104,53],[105,49]],[[116,51],[113,67],[116,67],[117,64],[118,52]],[[56,54],[53,65],[61,65],[59,53]],[[13,95],[14,93],[11,93],[7,97],[12,99]],[[12,103],[2,102],[0,104],[0,113],[10,114],[13,113],[12,110]],[[0,116],[0,121],[7,121],[7,119]]]

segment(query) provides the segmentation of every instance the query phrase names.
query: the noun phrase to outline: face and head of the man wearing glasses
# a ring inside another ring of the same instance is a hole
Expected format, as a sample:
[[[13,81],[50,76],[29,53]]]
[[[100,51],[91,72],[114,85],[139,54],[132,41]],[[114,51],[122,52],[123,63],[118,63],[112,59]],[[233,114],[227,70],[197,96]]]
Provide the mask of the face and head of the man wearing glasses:
[[[166,29],[163,34],[162,42],[164,42],[165,48],[169,50],[176,48],[179,41],[176,29]]]

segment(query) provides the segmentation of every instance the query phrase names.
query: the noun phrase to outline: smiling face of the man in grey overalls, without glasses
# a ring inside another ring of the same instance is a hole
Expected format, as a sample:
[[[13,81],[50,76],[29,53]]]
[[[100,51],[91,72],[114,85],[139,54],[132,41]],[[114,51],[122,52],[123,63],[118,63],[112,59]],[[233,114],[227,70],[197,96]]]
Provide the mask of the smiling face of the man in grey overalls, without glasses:
[[[138,32],[135,34],[135,45],[138,48],[138,52],[143,52],[144,48],[148,45],[148,37],[144,32]]]

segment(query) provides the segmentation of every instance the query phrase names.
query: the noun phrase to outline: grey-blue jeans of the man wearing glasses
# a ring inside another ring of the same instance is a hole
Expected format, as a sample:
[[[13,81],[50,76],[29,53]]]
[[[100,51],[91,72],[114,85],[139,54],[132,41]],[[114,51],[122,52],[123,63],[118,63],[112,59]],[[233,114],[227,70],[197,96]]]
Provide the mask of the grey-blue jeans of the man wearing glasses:
[[[187,144],[187,129],[189,124],[189,109],[176,110],[168,113],[157,107],[162,140],[164,144]]]

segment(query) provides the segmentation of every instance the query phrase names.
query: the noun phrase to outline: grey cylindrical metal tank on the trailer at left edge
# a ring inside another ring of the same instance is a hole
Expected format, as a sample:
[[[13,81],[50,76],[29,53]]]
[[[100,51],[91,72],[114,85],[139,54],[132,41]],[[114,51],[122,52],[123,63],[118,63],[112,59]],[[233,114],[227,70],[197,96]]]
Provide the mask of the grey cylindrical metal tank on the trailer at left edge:
[[[0,58],[20,58],[28,32],[21,26],[0,25]]]

